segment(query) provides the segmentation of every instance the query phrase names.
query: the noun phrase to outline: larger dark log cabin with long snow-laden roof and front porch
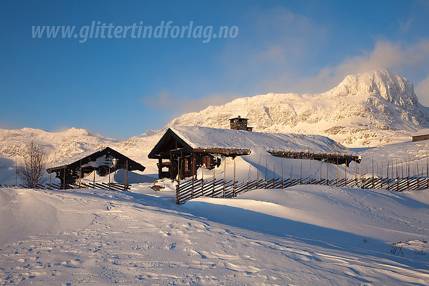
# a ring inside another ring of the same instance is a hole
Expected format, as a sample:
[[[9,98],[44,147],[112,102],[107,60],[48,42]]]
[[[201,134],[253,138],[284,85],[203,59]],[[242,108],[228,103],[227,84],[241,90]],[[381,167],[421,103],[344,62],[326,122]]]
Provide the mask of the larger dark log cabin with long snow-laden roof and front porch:
[[[287,158],[308,158],[349,164],[360,156],[334,140],[321,135],[249,132],[208,127],[169,128],[148,157],[158,159],[158,177],[191,177],[199,167],[220,166],[222,156],[251,153]],[[259,156],[259,155],[258,155]],[[164,170],[166,168],[166,170]]]

